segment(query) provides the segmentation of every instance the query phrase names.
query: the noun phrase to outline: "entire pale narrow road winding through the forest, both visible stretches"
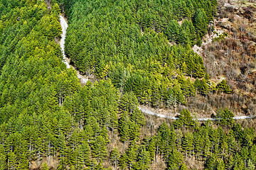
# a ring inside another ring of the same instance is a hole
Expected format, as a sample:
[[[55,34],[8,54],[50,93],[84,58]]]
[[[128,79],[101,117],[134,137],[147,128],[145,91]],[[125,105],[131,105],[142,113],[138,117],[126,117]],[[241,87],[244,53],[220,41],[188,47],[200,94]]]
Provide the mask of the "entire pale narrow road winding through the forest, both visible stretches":
[[[67,66],[67,69],[69,69],[72,66],[70,66],[70,64],[68,63],[67,58],[65,56],[65,34],[67,32],[68,23],[65,21],[65,19],[61,15],[60,15],[60,26],[61,26],[62,31],[63,31],[63,33],[61,35],[61,40],[60,40],[60,48],[61,48],[61,51],[63,52],[63,62]],[[72,68],[75,69],[74,67],[72,67]],[[79,74],[78,71],[77,71],[77,76],[78,76],[78,79],[80,79],[82,84],[86,84],[86,82],[88,81],[88,79],[83,77],[81,74]],[[138,107],[138,108],[143,113],[146,113],[146,114],[149,114],[149,115],[156,115],[160,118],[169,118],[169,119],[174,119],[174,120],[178,119],[176,117],[171,117],[171,116],[162,115],[162,114],[159,114],[159,113],[154,113],[154,112],[149,111],[145,108],[140,108],[140,107]],[[250,118],[256,118],[256,115],[236,116],[233,119],[250,119]],[[195,120],[198,120],[198,121],[206,121],[206,120],[216,121],[216,120],[219,120],[219,119],[218,118],[196,118]]]

